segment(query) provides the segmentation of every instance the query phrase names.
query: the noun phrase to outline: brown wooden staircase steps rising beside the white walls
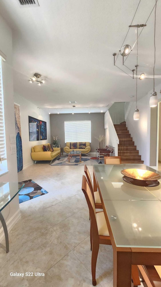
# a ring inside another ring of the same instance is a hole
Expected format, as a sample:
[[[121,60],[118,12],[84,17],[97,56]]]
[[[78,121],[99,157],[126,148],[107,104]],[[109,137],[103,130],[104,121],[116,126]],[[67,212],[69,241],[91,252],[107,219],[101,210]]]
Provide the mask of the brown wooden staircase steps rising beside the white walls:
[[[122,163],[143,164],[144,161],[141,160],[139,151],[136,150],[134,141],[126,127],[126,122],[122,122],[120,125],[114,125],[114,127],[119,138],[118,156],[121,156]]]

